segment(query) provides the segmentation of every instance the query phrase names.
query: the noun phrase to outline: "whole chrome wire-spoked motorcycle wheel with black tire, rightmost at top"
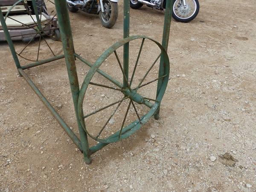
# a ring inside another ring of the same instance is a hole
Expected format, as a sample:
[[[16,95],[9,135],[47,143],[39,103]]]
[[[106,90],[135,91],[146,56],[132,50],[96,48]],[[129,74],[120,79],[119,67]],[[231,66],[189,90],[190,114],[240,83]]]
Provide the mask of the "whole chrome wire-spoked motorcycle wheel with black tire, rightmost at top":
[[[182,23],[188,23],[195,19],[199,12],[198,0],[186,0],[187,6],[183,6],[182,0],[175,0],[172,17]]]

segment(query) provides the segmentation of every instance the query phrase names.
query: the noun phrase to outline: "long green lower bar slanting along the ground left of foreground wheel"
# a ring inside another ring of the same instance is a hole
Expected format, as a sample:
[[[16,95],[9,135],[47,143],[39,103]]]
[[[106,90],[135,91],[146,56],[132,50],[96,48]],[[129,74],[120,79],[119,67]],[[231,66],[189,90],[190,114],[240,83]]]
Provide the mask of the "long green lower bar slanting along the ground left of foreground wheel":
[[[61,125],[61,127],[64,129],[64,131],[68,134],[68,136],[71,138],[71,140],[76,144],[76,146],[82,151],[81,147],[81,141],[79,138],[74,134],[74,132],[70,129],[70,127],[64,122],[64,120],[61,118],[61,116],[55,111],[55,109],[52,107],[52,105],[47,101],[47,99],[44,97],[44,95],[40,92],[40,90],[35,86],[33,81],[29,79],[29,76],[23,71],[23,69],[19,68],[18,71],[20,72],[20,75],[23,76],[23,78],[27,81],[27,83],[30,85],[30,87],[35,91],[35,93],[38,95],[39,99],[44,103],[44,105],[48,108],[48,110],[52,113],[52,115],[55,117],[55,119],[58,121],[58,123]]]

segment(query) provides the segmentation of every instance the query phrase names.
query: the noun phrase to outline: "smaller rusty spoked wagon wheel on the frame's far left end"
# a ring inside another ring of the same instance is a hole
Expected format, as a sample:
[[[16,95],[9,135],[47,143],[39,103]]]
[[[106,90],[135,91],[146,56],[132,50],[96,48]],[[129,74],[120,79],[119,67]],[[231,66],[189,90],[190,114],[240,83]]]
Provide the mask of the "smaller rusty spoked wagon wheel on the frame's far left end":
[[[17,1],[5,15],[7,23],[9,20],[16,25],[8,27],[10,29],[12,40],[23,40],[23,44],[16,44],[16,54],[21,58],[32,62],[60,55],[62,52],[61,42],[54,44],[52,42],[52,39],[54,41],[60,41],[58,34],[55,34],[55,31],[58,32],[59,30],[55,10],[47,10],[44,0],[27,1],[24,6],[31,22],[25,23],[22,20],[22,17],[25,15],[10,15],[15,5],[22,1],[23,0]],[[50,0],[46,1],[54,4]],[[17,25],[19,25],[19,29],[17,28]]]

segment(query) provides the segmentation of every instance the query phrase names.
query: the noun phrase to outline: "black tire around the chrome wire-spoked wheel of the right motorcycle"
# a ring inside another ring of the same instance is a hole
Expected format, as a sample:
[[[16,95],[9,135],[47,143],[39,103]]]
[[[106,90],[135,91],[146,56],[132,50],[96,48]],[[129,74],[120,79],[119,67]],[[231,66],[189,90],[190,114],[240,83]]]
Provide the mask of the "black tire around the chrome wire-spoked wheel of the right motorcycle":
[[[173,4],[172,17],[175,20],[177,20],[179,22],[182,22],[182,23],[188,23],[188,22],[192,21],[193,19],[195,19],[195,17],[198,15],[199,8],[200,8],[198,0],[187,0],[187,1],[191,1],[194,4],[195,10],[194,10],[194,12],[192,13],[191,16],[185,17],[185,18],[180,17],[180,15],[178,15],[178,13],[177,13],[178,10],[176,10],[176,9],[179,9],[179,7],[176,7],[177,3],[182,2],[182,1],[181,0],[175,0],[175,2]]]

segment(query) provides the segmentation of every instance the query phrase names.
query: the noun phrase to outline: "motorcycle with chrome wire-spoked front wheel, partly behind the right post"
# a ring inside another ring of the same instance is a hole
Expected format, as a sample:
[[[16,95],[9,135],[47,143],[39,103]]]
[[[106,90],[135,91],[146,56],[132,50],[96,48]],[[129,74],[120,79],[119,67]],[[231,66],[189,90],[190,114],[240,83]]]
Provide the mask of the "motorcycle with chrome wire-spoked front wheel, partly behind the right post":
[[[166,0],[130,0],[132,9],[140,9],[143,5],[153,9],[164,10]],[[183,23],[187,23],[195,19],[199,12],[198,0],[174,0],[172,17]]]

